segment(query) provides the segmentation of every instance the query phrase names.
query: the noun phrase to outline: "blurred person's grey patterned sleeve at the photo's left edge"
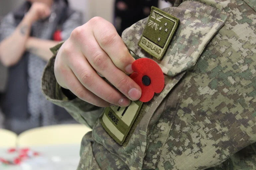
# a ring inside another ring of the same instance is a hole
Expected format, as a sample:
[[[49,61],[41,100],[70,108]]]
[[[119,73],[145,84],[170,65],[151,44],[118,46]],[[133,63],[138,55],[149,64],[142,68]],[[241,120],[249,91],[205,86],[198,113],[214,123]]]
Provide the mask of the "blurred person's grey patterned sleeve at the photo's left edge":
[[[7,14],[1,21],[0,25],[0,41],[10,36],[16,29],[14,16],[12,13]]]

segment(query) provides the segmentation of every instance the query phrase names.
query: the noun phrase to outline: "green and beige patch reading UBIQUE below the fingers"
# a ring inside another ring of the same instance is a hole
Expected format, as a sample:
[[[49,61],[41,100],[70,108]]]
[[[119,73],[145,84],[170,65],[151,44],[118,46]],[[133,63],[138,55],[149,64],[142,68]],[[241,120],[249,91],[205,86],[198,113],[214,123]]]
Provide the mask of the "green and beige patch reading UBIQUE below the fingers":
[[[100,123],[117,143],[123,144],[132,126],[135,126],[133,124],[142,104],[141,101],[137,100],[131,101],[127,107],[111,106],[105,108]]]

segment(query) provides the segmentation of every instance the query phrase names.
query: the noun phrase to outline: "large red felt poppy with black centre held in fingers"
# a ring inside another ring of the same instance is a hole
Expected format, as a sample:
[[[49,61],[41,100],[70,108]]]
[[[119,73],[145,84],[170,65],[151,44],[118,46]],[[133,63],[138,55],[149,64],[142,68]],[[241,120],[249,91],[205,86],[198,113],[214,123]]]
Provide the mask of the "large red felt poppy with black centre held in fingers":
[[[141,87],[140,101],[150,101],[155,93],[160,93],[165,86],[164,73],[151,59],[140,58],[132,63],[134,73],[130,77]]]

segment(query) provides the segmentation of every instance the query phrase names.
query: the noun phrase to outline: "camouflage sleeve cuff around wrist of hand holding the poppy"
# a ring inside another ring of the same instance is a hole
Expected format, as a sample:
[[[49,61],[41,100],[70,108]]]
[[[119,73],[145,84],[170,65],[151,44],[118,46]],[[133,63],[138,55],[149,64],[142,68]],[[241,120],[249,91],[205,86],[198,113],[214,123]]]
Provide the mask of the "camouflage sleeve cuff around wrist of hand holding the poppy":
[[[42,92],[49,101],[64,107],[76,121],[92,128],[104,108],[94,106],[77,97],[69,100],[65,96],[54,75],[55,57],[60,46],[61,44],[51,49],[54,56],[49,60],[45,67],[41,85]]]

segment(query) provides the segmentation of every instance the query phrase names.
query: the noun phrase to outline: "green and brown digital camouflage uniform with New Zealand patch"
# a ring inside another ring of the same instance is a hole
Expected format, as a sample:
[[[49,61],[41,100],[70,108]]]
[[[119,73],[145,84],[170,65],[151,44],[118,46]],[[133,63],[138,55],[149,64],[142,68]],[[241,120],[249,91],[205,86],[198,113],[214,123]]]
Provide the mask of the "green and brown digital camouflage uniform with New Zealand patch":
[[[100,124],[103,108],[59,90],[55,58],[46,67],[46,97],[93,128],[78,170],[255,170],[256,1],[177,0],[163,10],[180,25],[162,61],[137,45],[147,19],[122,34],[134,56],[155,60],[165,74],[164,90],[144,103],[125,145]]]

